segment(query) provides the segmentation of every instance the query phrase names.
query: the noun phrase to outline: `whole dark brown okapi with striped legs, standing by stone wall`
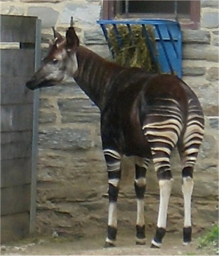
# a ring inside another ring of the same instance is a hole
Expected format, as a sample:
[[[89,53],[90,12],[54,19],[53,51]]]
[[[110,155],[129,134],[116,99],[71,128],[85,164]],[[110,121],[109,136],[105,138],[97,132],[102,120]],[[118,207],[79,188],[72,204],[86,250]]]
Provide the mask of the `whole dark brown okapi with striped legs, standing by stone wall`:
[[[101,58],[79,45],[72,25],[66,31],[66,38],[55,30],[54,38],[43,65],[26,86],[30,90],[54,86],[67,74],[100,110],[109,195],[105,246],[116,243],[120,163],[126,155],[135,156],[136,243],[140,245],[145,244],[146,170],[150,160],[153,161],[160,187],[160,206],[151,247],[160,248],[173,183],[170,155],[175,146],[182,163],[183,243],[190,243],[193,169],[204,132],[203,111],[195,93],[177,76],[151,74],[142,68],[123,67]]]

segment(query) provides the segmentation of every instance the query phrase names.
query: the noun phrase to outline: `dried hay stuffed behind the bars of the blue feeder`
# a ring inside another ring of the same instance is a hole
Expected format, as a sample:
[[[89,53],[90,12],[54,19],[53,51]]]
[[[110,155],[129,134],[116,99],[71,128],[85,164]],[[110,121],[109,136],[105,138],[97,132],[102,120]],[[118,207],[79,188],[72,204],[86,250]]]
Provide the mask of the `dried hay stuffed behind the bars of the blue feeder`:
[[[118,44],[118,36],[116,36],[115,29],[111,28],[108,34],[111,50],[115,53],[115,62],[122,66],[145,68],[150,72],[159,72],[159,65],[154,64],[151,60],[150,49],[146,45],[141,25],[131,25],[132,33],[128,31],[126,25],[118,25],[116,27],[120,34],[121,48]],[[153,46],[153,52],[156,55],[153,26],[146,25],[145,28]]]

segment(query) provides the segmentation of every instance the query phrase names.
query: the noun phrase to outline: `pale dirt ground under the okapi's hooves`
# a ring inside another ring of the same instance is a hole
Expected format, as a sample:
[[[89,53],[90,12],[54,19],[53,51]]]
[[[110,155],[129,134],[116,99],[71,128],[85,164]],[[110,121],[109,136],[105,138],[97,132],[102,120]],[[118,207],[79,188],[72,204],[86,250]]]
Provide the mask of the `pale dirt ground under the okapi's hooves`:
[[[78,239],[34,235],[1,245],[1,255],[216,255],[213,248],[198,248],[198,237],[193,237],[191,245],[183,246],[180,233],[166,233],[162,247],[154,249],[150,248],[152,234],[146,245],[135,245],[132,234],[119,232],[113,248],[103,248],[104,234]]]

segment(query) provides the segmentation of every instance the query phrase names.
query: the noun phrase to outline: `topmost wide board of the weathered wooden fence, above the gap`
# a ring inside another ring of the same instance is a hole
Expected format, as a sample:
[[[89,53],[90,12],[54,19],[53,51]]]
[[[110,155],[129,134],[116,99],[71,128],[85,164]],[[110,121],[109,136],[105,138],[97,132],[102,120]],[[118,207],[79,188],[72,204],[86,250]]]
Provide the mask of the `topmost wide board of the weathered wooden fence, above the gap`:
[[[36,17],[1,15],[1,42],[35,43]]]

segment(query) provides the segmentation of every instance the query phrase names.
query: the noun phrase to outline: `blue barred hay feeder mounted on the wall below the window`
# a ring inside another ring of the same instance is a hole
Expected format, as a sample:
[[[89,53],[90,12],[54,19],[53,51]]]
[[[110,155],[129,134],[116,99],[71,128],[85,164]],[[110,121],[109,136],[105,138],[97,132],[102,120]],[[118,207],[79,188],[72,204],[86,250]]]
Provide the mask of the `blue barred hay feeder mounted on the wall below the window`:
[[[99,20],[97,23],[101,26],[103,34],[109,46],[109,50],[114,58],[113,50],[109,43],[108,28],[115,29],[116,39],[119,46],[122,44],[117,26],[125,24],[128,31],[131,33],[132,24],[140,24],[145,36],[145,43],[150,49],[151,58],[155,66],[159,65],[161,73],[176,74],[181,78],[181,29],[177,21],[166,19],[139,19],[139,20]],[[150,42],[150,37],[146,31],[145,25],[151,25],[154,28],[156,49],[158,55],[153,52],[153,47]]]

